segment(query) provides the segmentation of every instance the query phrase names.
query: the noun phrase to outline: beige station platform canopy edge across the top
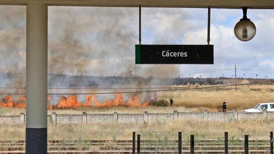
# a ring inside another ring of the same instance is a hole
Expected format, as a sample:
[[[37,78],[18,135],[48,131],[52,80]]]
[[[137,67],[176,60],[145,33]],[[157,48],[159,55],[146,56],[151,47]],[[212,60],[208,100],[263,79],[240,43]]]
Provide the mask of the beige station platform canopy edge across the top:
[[[49,6],[90,7],[179,7],[179,8],[225,8],[274,9],[274,0],[0,0],[0,5],[26,5],[29,2]]]

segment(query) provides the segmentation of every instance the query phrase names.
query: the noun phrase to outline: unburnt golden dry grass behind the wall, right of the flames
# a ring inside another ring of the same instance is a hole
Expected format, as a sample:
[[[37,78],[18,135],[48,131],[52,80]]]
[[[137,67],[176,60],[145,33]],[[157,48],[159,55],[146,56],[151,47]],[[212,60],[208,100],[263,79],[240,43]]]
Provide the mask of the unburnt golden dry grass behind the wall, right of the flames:
[[[262,88],[262,87],[261,87]],[[228,110],[239,112],[253,108],[258,103],[274,102],[274,93],[269,89],[251,90],[249,88],[235,89],[199,89],[188,91],[160,92],[159,99],[169,100],[172,97],[174,105],[187,108],[196,107],[199,111],[221,111],[223,101]]]

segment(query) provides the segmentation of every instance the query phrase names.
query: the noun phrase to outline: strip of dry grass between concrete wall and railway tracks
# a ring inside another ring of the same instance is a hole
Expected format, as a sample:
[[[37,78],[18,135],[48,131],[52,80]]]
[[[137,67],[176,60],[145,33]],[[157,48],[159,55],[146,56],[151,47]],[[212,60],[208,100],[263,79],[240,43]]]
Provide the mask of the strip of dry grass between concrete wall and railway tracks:
[[[224,131],[258,134],[273,131],[273,120],[244,120],[235,122],[178,122],[162,124],[80,124],[48,125],[48,140],[130,140],[132,132],[211,132]],[[0,125],[0,140],[24,140],[25,125]]]

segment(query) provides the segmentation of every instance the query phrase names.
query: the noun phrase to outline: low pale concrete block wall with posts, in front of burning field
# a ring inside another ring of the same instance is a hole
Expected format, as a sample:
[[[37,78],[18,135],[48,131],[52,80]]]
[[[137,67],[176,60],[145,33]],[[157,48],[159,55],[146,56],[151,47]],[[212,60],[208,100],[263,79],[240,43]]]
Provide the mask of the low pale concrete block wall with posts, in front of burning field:
[[[227,122],[246,119],[274,119],[274,112],[263,110],[262,113],[208,112],[186,113],[175,110],[173,113],[143,114],[56,114],[48,115],[48,124],[152,124],[177,121]],[[0,116],[0,124],[24,124],[25,114]]]

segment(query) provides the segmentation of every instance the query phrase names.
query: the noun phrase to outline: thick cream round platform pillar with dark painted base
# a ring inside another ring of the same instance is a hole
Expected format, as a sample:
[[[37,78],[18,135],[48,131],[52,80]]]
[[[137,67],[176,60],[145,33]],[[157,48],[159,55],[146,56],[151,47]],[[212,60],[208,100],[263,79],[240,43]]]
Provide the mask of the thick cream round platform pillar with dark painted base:
[[[48,5],[26,3],[26,154],[47,153]]]

